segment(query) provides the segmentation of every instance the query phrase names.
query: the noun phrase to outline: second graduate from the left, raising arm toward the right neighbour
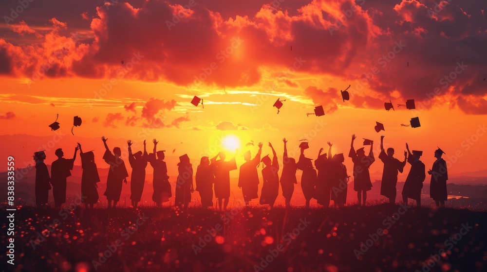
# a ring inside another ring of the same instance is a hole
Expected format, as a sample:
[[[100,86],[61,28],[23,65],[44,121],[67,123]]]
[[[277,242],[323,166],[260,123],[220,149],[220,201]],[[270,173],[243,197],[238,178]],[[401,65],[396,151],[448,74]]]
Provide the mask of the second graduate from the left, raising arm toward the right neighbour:
[[[71,176],[73,164],[75,163],[76,153],[79,147],[76,145],[75,154],[72,159],[63,158],[62,149],[56,149],[57,160],[51,165],[51,183],[53,185],[54,206],[60,207],[66,202],[66,178]]]

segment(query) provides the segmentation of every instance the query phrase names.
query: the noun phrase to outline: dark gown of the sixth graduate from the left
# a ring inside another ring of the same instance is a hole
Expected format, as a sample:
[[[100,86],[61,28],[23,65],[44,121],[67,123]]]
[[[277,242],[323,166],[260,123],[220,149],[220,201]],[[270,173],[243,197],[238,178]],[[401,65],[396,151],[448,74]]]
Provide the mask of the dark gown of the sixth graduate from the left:
[[[171,185],[169,184],[168,167],[166,162],[155,159],[150,159],[150,166],[154,168],[154,179],[152,185],[154,193],[152,194],[152,201],[155,203],[168,202],[172,196]]]

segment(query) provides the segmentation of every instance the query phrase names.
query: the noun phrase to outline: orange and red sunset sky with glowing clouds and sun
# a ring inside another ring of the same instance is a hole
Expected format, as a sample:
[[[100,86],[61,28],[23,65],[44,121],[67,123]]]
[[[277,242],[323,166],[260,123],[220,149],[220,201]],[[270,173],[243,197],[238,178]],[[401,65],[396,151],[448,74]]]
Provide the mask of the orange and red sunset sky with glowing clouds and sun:
[[[408,142],[427,168],[439,146],[451,173],[487,169],[486,1],[281,1],[1,1],[1,161],[24,167],[46,145],[50,164],[80,142],[105,168],[101,136],[125,151],[147,139],[149,152],[157,138],[175,174],[184,153],[196,166],[238,147],[240,165],[245,143],[267,154],[270,141],[282,156],[286,137],[290,150],[308,139],[313,159],[333,142],[352,174],[356,134],[356,149],[375,141],[376,158],[385,135],[400,160]],[[408,99],[416,110],[397,106]],[[325,116],[307,117],[317,105]],[[401,126],[413,117],[421,127]]]

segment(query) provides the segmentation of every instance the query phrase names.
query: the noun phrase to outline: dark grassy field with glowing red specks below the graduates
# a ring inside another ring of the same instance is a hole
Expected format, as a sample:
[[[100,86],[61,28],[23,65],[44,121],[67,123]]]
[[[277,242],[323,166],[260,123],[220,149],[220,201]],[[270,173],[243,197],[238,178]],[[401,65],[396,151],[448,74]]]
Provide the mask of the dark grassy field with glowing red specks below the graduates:
[[[6,216],[6,271],[487,271],[487,212],[468,209],[24,206],[15,266],[5,265]]]

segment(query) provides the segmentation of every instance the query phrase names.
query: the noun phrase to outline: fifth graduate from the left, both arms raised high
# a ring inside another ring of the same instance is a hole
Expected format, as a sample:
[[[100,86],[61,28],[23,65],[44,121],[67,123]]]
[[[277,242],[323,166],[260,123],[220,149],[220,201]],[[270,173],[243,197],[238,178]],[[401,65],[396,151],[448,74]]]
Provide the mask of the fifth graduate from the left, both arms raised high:
[[[146,141],[144,140],[144,153],[138,151],[135,154],[132,153],[132,141],[128,140],[129,146],[129,164],[132,168],[132,174],[130,179],[130,199],[132,207],[136,208],[142,197],[142,191],[144,190],[144,183],[146,179],[146,167],[149,154],[146,150]]]

